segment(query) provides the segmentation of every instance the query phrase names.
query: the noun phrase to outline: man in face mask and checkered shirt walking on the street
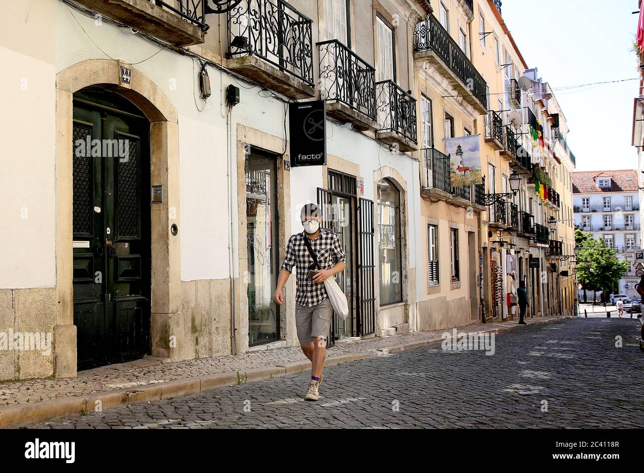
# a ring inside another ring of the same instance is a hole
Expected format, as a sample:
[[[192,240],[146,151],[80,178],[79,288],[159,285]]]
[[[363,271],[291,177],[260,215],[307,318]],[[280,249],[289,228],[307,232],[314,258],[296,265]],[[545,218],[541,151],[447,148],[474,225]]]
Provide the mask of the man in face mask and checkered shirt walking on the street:
[[[311,360],[311,380],[305,399],[317,401],[327,355],[326,340],[333,317],[324,281],[345,269],[345,252],[334,232],[320,228],[322,212],[317,205],[305,205],[300,216],[304,232],[289,239],[279,270],[275,302],[279,305],[284,303],[282,290],[293,266],[296,266],[295,324],[302,351]]]

